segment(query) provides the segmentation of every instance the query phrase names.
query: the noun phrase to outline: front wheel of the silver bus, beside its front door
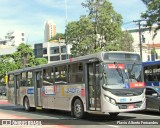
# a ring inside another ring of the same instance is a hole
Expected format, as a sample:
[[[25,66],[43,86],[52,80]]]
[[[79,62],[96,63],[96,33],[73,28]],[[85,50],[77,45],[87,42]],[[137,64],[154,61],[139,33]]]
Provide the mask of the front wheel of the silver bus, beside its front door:
[[[74,117],[76,118],[83,118],[84,117],[84,107],[83,107],[83,104],[82,104],[82,101],[80,99],[76,99],[74,101],[74,105],[73,105],[73,115]]]

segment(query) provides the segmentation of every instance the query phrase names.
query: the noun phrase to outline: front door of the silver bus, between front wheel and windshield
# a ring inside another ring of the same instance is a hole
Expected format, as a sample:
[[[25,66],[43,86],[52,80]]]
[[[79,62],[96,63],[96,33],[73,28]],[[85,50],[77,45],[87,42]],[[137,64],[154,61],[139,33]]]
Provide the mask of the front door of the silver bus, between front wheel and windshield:
[[[100,78],[98,63],[87,64],[88,108],[100,111]]]

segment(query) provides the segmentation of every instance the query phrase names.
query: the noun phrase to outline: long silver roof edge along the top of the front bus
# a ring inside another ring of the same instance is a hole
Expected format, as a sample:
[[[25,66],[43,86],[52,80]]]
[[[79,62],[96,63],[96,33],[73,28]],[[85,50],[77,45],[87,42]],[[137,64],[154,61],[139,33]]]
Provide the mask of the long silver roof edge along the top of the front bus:
[[[115,53],[115,54],[127,54],[127,55],[137,55],[139,56],[137,53],[134,53],[134,52],[125,52],[125,51],[107,51],[107,52],[98,52],[98,53],[94,53],[94,54],[89,54],[89,55],[85,55],[85,56],[79,56],[79,57],[75,57],[75,58],[69,58],[69,59],[66,59],[66,60],[61,60],[61,61],[56,61],[56,62],[52,62],[52,63],[49,63],[49,64],[43,64],[43,65],[38,65],[38,66],[34,66],[34,67],[27,67],[27,68],[24,68],[24,69],[18,69],[18,70],[15,70],[15,71],[10,71],[8,72],[8,74],[10,73],[20,73],[20,72],[23,72],[23,71],[29,71],[29,70],[38,70],[38,69],[41,69],[41,68],[45,68],[45,67],[50,67],[50,66],[54,66],[54,65],[63,65],[65,63],[74,63],[74,62],[81,62],[81,61],[104,61],[104,55],[105,54],[110,54],[110,53]],[[114,58],[112,58],[114,59]],[[122,59],[122,58],[119,58],[119,59]],[[113,60],[112,60],[113,61]],[[123,60],[124,61],[124,60]],[[136,61],[139,61],[139,60],[136,60]]]

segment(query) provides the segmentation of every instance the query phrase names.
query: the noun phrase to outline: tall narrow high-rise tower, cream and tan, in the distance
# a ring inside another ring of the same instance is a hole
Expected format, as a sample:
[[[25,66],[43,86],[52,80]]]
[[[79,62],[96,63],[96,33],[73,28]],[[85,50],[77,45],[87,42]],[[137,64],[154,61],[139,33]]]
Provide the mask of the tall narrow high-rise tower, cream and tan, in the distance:
[[[48,42],[55,35],[56,35],[55,22],[52,20],[46,21],[44,28],[44,42]]]

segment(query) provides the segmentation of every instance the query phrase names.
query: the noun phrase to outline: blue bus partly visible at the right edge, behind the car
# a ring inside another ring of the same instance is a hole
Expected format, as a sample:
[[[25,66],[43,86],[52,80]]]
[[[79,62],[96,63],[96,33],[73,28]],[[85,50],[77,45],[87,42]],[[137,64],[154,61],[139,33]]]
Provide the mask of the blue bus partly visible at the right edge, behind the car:
[[[160,86],[160,60],[143,62],[144,81],[147,86]]]

